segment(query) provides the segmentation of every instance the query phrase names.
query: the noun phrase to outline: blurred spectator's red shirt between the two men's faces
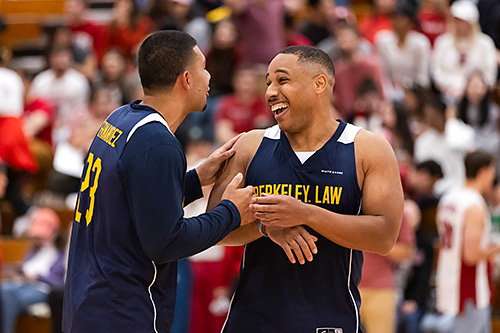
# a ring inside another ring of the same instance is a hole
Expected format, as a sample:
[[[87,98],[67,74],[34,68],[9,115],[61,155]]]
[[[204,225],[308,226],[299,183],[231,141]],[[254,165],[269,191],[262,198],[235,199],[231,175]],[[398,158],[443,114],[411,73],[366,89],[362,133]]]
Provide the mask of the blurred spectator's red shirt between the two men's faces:
[[[215,121],[229,120],[234,132],[243,133],[255,129],[254,120],[260,116],[271,117],[262,97],[255,95],[251,103],[242,104],[235,96],[227,96],[220,103]]]

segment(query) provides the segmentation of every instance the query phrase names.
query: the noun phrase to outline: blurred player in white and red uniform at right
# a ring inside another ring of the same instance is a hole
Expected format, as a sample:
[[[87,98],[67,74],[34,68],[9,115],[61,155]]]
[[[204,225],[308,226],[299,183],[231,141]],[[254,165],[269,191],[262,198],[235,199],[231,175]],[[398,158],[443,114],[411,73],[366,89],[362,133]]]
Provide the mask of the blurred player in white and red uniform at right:
[[[465,157],[467,179],[438,206],[440,248],[437,308],[454,317],[454,332],[490,332],[488,258],[500,252],[490,243],[491,217],[483,195],[492,187],[495,163],[475,151]]]

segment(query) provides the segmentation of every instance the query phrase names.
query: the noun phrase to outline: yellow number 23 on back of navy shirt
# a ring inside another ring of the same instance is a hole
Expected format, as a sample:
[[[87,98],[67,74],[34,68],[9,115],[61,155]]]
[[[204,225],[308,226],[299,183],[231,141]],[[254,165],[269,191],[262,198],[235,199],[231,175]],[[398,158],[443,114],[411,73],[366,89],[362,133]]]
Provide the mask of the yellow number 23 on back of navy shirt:
[[[95,205],[95,192],[97,191],[97,186],[99,185],[99,176],[101,175],[101,159],[96,157],[94,160],[94,154],[89,153],[86,163],[87,171],[85,172],[85,178],[83,179],[82,185],[80,186],[80,195],[78,196],[78,202],[76,204],[75,221],[80,223],[82,218],[82,213],[80,212],[80,200],[83,193],[90,187],[88,208],[85,212],[85,221],[87,221],[87,226],[92,221],[92,215],[94,214]],[[92,178],[92,184],[91,184]]]

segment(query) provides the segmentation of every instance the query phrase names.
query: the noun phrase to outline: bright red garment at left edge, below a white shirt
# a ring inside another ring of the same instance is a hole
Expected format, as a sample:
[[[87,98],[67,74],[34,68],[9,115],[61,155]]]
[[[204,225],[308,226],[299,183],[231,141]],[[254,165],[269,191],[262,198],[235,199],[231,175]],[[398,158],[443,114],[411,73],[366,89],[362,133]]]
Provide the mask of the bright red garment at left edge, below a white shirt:
[[[14,170],[35,172],[37,164],[17,117],[0,117],[0,159]]]

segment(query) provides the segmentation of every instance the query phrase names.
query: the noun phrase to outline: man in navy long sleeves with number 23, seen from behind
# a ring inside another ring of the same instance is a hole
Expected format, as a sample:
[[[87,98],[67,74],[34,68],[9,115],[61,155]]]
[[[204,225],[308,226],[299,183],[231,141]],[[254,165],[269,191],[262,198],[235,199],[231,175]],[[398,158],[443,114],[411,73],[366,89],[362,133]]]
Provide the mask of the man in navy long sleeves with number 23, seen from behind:
[[[144,100],[115,110],[90,147],[75,210],[64,291],[64,332],[169,332],[179,258],[254,220],[253,189],[238,175],[216,207],[183,218],[213,183],[235,140],[186,173],[174,132],[206,105],[210,74],[183,32],[150,35],[139,50]]]

